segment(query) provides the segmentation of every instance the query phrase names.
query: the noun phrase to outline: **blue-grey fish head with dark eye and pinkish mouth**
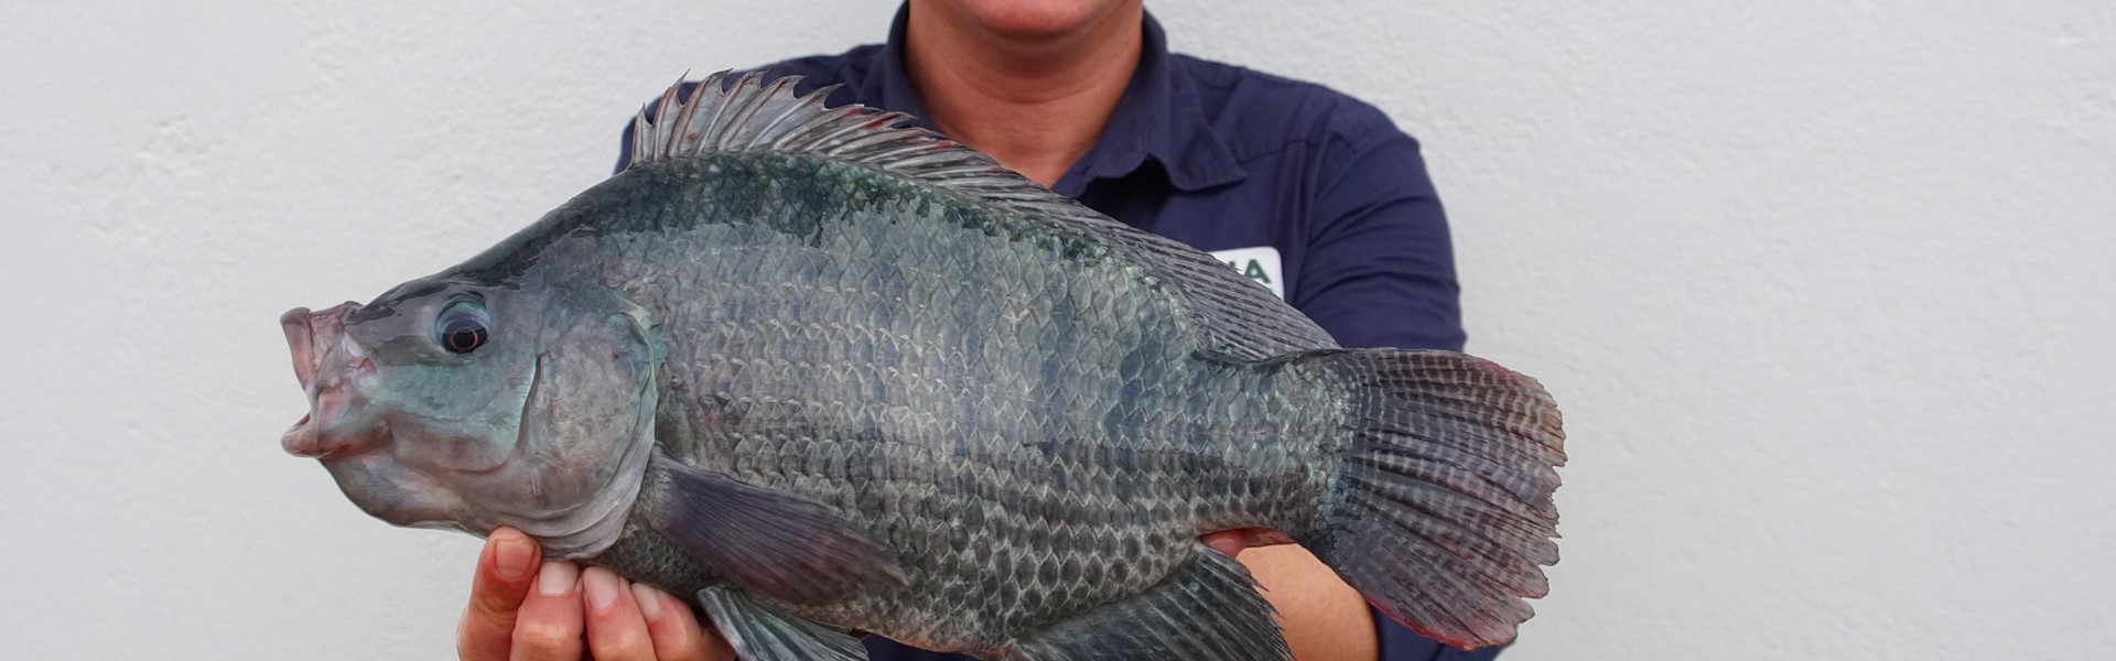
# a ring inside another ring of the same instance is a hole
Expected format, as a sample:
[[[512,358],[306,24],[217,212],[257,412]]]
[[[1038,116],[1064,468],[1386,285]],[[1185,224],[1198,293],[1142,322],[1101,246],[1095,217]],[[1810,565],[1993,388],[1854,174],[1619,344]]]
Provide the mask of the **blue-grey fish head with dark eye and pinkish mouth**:
[[[599,551],[639,489],[658,364],[643,316],[609,299],[427,278],[296,307],[279,324],[309,415],[281,447],[396,525]]]

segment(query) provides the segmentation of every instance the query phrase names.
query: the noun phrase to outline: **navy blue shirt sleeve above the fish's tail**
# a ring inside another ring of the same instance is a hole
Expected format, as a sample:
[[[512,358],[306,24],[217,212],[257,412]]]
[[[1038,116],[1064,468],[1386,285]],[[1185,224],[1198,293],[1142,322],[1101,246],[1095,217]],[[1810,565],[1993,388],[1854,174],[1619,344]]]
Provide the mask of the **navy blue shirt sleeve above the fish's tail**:
[[[1454,246],[1418,142],[1369,106],[1346,114],[1316,146],[1289,303],[1348,347],[1460,352]]]

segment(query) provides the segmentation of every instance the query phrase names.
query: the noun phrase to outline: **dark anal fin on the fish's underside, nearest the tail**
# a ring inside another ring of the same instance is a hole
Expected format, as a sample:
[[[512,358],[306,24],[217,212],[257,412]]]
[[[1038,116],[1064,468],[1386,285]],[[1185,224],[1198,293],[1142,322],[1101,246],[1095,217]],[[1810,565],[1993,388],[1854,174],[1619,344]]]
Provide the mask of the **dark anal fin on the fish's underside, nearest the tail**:
[[[1014,640],[1003,661],[1289,661],[1276,610],[1234,557],[1198,544],[1166,580]]]

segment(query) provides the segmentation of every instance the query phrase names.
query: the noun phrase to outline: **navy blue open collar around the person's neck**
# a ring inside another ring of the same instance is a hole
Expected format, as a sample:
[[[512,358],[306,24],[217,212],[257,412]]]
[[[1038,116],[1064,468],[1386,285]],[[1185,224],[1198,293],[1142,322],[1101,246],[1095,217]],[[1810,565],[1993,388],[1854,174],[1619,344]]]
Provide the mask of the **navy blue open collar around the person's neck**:
[[[910,2],[897,6],[895,23],[889,25],[889,42],[876,53],[870,85],[880,85],[882,108],[918,117],[918,125],[931,129],[925,104],[904,70],[904,30],[910,21]],[[1212,133],[1204,119],[1204,104],[1198,85],[1176,68],[1168,53],[1168,36],[1151,13],[1145,15],[1145,42],[1138,53],[1138,70],[1124,89],[1117,110],[1102,127],[1102,138],[1088,150],[1073,169],[1058,180],[1058,193],[1079,195],[1090,180],[1124,178],[1138,172],[1147,159],[1168,169],[1168,182],[1179,191],[1200,191],[1238,182],[1248,176],[1227,150],[1227,144]],[[868,95],[874,97],[874,95]]]

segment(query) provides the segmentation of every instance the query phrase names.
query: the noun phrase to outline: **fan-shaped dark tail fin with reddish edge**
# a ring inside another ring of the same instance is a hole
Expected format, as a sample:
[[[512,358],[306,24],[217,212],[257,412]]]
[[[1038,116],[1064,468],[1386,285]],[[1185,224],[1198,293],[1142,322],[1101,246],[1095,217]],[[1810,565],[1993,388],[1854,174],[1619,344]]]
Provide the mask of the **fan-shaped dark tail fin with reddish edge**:
[[[1452,352],[1297,358],[1352,388],[1325,511],[1303,540],[1367,602],[1433,640],[1513,640],[1557,561],[1557,403],[1536,379]]]

